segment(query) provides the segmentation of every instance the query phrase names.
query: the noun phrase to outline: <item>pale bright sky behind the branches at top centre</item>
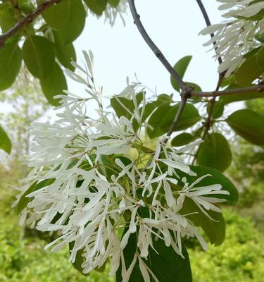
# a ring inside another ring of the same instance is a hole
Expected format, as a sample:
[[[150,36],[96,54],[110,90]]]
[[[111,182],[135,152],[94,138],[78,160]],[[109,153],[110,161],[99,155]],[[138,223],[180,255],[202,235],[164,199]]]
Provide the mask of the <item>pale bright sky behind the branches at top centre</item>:
[[[222,20],[218,4],[204,1],[212,23]],[[213,51],[203,47],[208,37],[198,35],[206,25],[196,1],[137,0],[136,6],[146,31],[172,65],[183,56],[193,56],[184,80],[196,82],[202,90],[214,90],[218,62],[212,58]],[[111,27],[103,18],[89,15],[82,35],[74,43],[77,61],[82,63],[82,50],[93,51],[96,85],[103,86],[105,96],[120,93],[127,76],[135,80],[134,73],[143,85],[156,88],[158,94],[175,92],[170,74],[142,39],[129,10],[124,18],[125,26],[118,18]],[[84,92],[82,85],[70,80],[68,87],[75,94]]]

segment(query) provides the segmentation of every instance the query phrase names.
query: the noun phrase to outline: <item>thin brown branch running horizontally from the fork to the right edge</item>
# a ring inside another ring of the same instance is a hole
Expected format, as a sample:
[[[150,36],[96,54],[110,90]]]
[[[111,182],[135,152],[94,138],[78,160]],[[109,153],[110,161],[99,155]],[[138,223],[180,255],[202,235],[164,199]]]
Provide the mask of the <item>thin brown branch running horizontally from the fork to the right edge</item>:
[[[256,85],[244,88],[234,88],[229,90],[222,90],[222,91],[211,91],[211,92],[191,92],[191,96],[194,97],[218,97],[218,96],[225,96],[225,95],[233,95],[233,94],[246,94],[250,92],[263,92],[264,85]],[[264,97],[264,94],[263,94]]]

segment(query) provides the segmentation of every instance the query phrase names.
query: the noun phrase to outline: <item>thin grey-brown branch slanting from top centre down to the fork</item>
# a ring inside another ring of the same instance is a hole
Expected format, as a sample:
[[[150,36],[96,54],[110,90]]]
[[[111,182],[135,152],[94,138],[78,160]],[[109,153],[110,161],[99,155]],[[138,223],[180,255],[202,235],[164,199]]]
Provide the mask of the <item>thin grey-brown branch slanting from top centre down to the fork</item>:
[[[175,81],[177,82],[177,84],[180,86],[180,88],[183,90],[184,88],[187,87],[187,85],[183,82],[182,78],[180,78],[180,76],[178,75],[178,73],[175,71],[174,68],[172,68],[172,66],[170,65],[170,63],[168,62],[168,60],[165,58],[165,56],[163,55],[163,53],[161,52],[160,49],[158,49],[158,47],[156,46],[156,44],[152,41],[151,37],[149,37],[148,33],[146,32],[144,26],[142,25],[142,22],[140,20],[140,16],[137,13],[137,8],[134,4],[134,0],[128,0],[128,3],[130,4],[130,11],[132,13],[132,16],[134,18],[134,24],[137,25],[137,28],[140,32],[140,34],[142,35],[142,37],[144,38],[146,44],[149,45],[149,47],[151,48],[151,50],[153,51],[153,53],[157,56],[157,58],[161,61],[161,63],[163,63],[163,66],[165,66],[165,68],[168,70],[168,72],[170,73],[170,75],[172,75],[172,78],[175,79]]]

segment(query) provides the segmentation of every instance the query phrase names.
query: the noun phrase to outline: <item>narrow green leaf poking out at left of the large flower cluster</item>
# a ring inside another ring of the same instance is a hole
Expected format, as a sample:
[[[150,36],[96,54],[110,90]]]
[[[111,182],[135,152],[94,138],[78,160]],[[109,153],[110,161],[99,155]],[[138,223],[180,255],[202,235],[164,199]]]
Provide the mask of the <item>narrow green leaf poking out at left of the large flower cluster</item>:
[[[30,193],[34,191],[37,191],[39,189],[42,189],[46,186],[51,185],[52,183],[54,183],[54,181],[55,181],[55,178],[50,178],[50,179],[42,180],[40,182],[35,181],[32,185],[30,185],[30,188],[28,188],[23,193],[23,195],[20,197],[18,204],[15,207],[16,214],[20,214],[20,212],[22,212],[23,209],[25,209],[25,207],[27,207],[27,204],[30,202],[30,198],[27,197],[27,195],[30,195]]]

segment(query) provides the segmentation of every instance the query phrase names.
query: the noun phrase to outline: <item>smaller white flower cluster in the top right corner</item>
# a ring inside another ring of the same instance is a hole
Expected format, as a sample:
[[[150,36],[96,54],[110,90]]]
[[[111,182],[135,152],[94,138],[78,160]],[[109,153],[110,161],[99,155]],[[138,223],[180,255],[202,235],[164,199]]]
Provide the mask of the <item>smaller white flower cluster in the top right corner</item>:
[[[219,66],[220,73],[227,71],[228,77],[244,61],[244,55],[251,49],[260,46],[256,41],[256,34],[263,32],[264,20],[254,18],[264,8],[263,1],[253,0],[218,0],[220,10],[229,10],[223,15],[227,18],[223,23],[210,25],[201,30],[201,35],[214,36],[204,45],[215,42],[216,58],[221,57],[223,62]],[[253,17],[253,18],[252,18]]]

